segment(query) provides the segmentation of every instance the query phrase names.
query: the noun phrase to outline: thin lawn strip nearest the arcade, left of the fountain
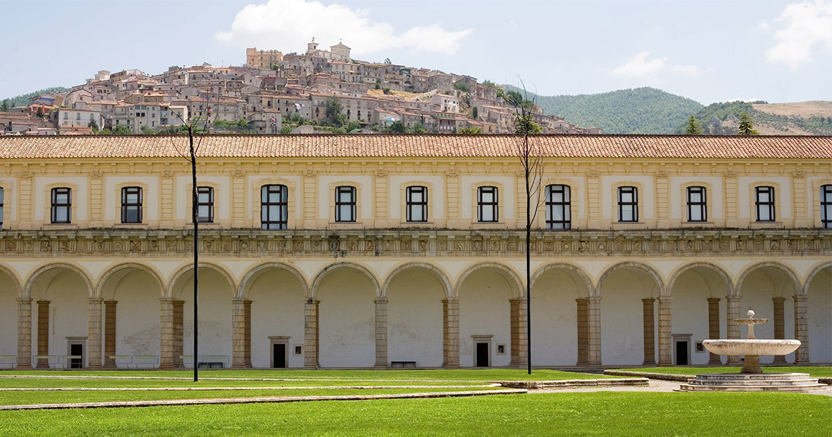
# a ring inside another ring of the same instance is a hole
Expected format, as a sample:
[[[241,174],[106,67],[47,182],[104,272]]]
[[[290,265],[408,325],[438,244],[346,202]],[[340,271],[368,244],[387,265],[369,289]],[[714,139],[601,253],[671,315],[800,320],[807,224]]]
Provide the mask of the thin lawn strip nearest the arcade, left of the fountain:
[[[190,378],[189,370],[5,370],[0,375],[156,376]],[[463,370],[200,370],[201,378],[281,378],[293,380],[590,380],[609,378],[562,370],[463,369]]]

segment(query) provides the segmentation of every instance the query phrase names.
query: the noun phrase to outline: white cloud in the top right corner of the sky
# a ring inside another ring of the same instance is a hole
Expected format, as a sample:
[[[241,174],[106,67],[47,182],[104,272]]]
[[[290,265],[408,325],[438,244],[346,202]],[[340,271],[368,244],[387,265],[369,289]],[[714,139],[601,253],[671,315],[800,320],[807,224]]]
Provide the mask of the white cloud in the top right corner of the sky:
[[[795,70],[814,60],[812,51],[832,51],[832,2],[815,0],[790,4],[777,17],[784,27],[775,32],[777,44],[765,52],[768,63]]]

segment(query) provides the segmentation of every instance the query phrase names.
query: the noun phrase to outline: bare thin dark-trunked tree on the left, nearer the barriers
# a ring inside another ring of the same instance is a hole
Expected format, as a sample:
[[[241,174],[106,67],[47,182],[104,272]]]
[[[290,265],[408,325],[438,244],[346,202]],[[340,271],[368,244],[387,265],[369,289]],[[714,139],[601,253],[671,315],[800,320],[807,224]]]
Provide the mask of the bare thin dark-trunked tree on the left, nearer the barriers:
[[[207,103],[207,102],[206,102]],[[199,264],[200,264],[200,233],[199,233],[199,194],[196,186],[196,153],[199,152],[202,145],[202,139],[208,132],[210,126],[211,110],[210,105],[206,104],[206,117],[203,120],[201,117],[195,117],[188,120],[182,118],[179,112],[173,112],[177,118],[182,122],[182,130],[188,135],[187,151],[181,148],[181,145],[176,143],[176,138],[171,137],[171,144],[173,144],[176,151],[182,158],[191,163],[191,221],[194,225],[194,382],[199,381]],[[202,125],[200,127],[200,125]],[[199,140],[194,144],[194,137],[198,136]]]

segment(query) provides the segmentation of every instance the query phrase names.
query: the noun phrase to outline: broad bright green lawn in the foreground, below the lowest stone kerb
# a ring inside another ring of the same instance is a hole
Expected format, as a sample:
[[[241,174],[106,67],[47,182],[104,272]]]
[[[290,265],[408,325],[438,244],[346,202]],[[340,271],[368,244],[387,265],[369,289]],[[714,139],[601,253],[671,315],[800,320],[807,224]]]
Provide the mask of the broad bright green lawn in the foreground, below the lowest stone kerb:
[[[0,412],[4,435],[830,435],[832,397],[552,393]]]

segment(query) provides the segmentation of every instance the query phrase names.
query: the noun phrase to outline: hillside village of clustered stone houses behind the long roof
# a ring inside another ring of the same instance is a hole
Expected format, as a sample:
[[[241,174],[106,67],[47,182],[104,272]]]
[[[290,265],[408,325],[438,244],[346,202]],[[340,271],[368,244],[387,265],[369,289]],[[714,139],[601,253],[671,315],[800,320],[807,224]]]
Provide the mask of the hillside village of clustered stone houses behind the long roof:
[[[68,92],[0,112],[12,135],[172,133],[210,120],[211,132],[505,133],[513,108],[502,86],[470,76],[354,60],[342,42],[303,53],[248,48],[242,67],[170,67],[150,75],[105,70]],[[534,107],[542,133],[601,133]]]

